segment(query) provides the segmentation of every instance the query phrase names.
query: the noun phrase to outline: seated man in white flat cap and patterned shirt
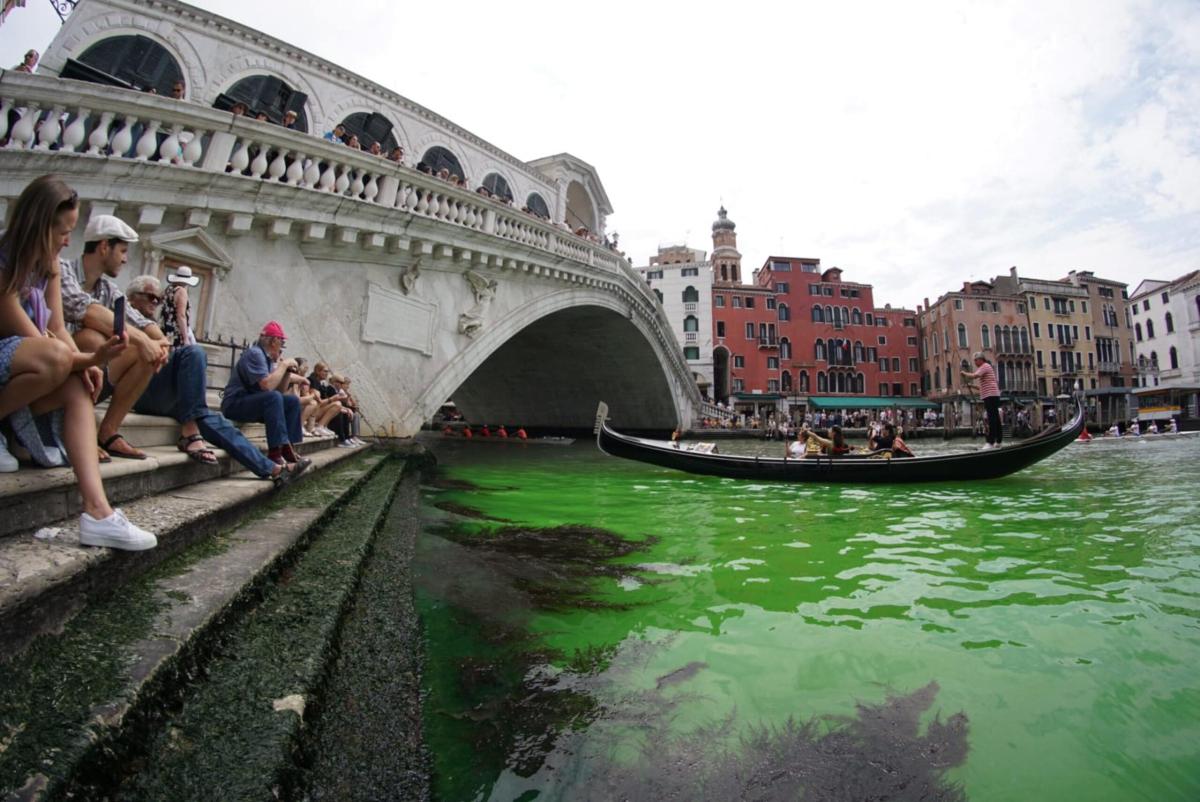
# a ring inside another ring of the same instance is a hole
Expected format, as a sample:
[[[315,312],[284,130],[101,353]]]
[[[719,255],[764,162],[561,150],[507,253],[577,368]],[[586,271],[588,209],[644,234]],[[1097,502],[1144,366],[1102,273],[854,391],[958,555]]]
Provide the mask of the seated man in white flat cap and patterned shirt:
[[[79,349],[96,351],[113,336],[113,307],[124,297],[115,279],[138,234],[119,217],[95,215],[88,221],[83,239],[83,257],[60,262],[62,317]],[[121,436],[120,426],[150,378],[167,364],[167,342],[157,324],[130,306],[125,319],[131,347],[108,364],[97,399],[112,396],[96,432],[102,461],[109,455],[127,460],[146,457]]]

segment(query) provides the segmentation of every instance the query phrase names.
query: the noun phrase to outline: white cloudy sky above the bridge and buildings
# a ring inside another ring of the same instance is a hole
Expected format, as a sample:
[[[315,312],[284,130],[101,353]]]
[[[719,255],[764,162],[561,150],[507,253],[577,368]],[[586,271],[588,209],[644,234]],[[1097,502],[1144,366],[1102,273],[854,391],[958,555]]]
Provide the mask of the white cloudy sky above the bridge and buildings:
[[[29,5],[2,64],[53,35]],[[593,163],[635,264],[709,250],[724,202],[748,274],[815,256],[878,303],[1014,264],[1130,285],[1200,268],[1194,0],[196,5],[520,158]]]

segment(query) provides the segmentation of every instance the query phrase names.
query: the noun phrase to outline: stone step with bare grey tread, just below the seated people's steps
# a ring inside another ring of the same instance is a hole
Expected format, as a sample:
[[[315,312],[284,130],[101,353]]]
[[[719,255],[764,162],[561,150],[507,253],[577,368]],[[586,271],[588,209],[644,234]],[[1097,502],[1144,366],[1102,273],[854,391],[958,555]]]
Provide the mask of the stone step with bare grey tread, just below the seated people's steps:
[[[94,780],[115,777],[113,756],[136,752],[180,684],[203,674],[222,622],[252,609],[310,537],[342,520],[340,509],[377,508],[400,471],[390,465],[367,453],[262,499],[241,525],[95,599],[0,665],[0,798],[100,798]],[[340,567],[348,556],[326,559]]]

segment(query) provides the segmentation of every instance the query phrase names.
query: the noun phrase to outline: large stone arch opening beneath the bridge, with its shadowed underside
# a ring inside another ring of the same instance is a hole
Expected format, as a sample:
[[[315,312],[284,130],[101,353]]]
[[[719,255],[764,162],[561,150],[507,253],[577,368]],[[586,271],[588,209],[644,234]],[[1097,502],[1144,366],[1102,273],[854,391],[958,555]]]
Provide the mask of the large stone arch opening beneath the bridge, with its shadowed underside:
[[[624,430],[670,430],[691,414],[670,364],[626,303],[602,291],[562,291],[469,341],[406,423],[419,425],[452,397],[474,423],[577,429],[589,426],[596,402],[605,401]]]

